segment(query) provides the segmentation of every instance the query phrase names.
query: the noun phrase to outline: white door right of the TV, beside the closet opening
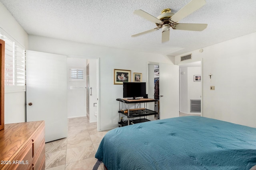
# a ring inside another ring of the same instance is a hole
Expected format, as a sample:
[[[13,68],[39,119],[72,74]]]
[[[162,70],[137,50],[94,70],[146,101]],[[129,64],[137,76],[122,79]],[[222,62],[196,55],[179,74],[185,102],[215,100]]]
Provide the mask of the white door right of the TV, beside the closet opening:
[[[160,119],[179,117],[179,66],[159,63]]]

